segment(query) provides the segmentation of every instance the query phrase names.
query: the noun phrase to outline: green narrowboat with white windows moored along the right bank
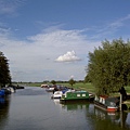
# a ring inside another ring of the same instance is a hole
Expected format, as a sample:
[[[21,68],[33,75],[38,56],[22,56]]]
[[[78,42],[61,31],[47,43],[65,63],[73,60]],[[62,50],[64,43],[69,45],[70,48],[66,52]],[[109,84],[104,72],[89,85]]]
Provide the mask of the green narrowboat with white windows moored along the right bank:
[[[92,96],[87,91],[66,91],[60,102],[61,103],[67,103],[67,102],[90,102],[93,101],[94,96]]]

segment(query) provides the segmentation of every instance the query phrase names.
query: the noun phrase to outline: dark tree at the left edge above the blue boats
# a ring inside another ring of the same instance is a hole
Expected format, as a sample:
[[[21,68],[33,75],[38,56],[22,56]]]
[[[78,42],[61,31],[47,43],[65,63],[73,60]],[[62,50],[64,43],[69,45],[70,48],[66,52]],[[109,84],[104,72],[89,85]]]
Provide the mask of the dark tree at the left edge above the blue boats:
[[[11,83],[9,63],[3,53],[0,52],[0,86],[4,87],[6,83]]]

